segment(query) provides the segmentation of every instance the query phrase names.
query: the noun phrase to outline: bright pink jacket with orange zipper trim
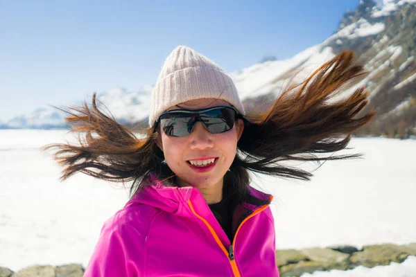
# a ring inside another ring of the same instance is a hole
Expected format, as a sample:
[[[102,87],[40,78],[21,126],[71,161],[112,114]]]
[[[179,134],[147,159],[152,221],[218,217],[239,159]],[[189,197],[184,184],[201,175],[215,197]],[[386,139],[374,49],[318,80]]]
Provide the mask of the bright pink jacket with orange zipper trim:
[[[105,222],[84,276],[279,276],[268,204],[244,202],[234,217],[230,242],[198,189],[156,181]]]

